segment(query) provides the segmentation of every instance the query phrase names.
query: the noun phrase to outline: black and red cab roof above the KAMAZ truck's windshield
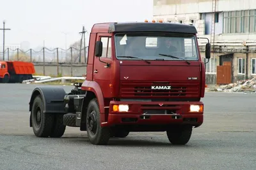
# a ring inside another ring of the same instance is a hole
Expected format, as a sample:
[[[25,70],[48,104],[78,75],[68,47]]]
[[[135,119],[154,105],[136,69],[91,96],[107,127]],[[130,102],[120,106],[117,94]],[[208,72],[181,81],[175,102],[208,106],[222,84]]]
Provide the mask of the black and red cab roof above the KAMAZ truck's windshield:
[[[92,27],[92,33],[117,32],[197,33],[195,26],[171,22],[104,22]]]

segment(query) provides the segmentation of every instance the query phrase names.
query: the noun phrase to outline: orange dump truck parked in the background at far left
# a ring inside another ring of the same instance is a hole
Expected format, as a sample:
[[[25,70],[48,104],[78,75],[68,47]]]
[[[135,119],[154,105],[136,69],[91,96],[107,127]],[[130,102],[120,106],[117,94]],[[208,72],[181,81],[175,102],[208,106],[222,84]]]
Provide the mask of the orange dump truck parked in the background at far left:
[[[0,61],[0,82],[22,82],[33,79],[33,63],[24,61]]]

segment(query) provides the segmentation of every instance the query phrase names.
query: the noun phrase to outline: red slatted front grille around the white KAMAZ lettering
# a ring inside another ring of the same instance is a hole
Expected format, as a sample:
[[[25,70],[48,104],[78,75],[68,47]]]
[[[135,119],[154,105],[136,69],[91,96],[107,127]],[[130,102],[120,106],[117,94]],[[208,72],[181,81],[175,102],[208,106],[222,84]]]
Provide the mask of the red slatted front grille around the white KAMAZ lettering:
[[[171,86],[171,89],[151,89],[151,86]],[[198,97],[200,82],[121,81],[122,97]]]

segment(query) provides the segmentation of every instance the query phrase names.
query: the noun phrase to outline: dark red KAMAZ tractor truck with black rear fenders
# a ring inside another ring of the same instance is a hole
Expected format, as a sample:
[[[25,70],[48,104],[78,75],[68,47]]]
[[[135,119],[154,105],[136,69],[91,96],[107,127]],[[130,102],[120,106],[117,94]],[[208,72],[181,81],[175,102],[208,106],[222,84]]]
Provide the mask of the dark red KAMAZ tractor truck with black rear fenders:
[[[204,120],[205,66],[196,33],[194,26],[164,22],[94,24],[86,80],[70,93],[36,87],[29,126],[37,137],[79,127],[92,144],[130,132],[166,132],[170,143],[188,143]]]

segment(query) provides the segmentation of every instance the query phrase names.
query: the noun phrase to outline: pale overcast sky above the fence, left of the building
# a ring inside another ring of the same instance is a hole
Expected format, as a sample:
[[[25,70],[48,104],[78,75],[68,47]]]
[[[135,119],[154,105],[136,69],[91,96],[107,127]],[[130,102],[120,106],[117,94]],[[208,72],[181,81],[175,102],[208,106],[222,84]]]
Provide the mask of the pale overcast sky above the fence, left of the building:
[[[65,49],[81,38],[83,26],[94,23],[152,19],[153,0],[0,0],[0,28],[6,22],[5,43],[29,42],[28,48]],[[88,36],[87,36],[88,37]],[[0,32],[3,44],[3,31]],[[25,44],[25,43],[24,43]]]

